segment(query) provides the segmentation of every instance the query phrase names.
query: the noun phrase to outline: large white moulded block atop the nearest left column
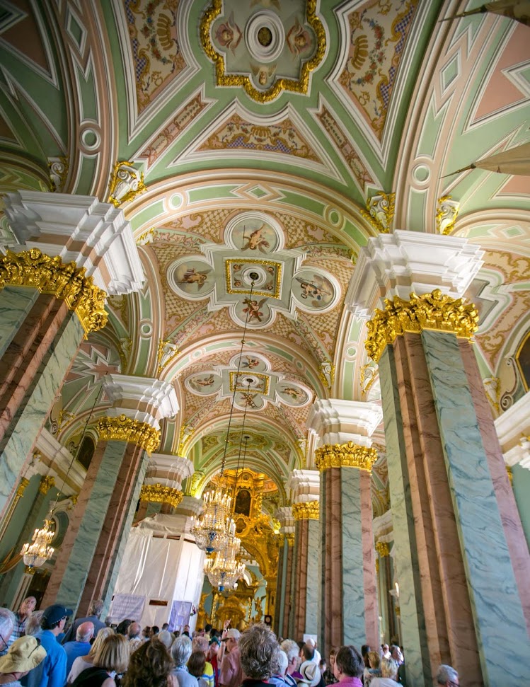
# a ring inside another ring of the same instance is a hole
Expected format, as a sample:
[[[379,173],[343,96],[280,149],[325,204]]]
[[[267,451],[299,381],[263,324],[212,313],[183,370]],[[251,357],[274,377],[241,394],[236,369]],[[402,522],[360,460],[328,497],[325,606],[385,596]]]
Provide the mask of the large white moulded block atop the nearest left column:
[[[86,268],[86,276],[113,296],[139,291],[144,270],[132,229],[120,209],[95,197],[16,191],[6,197],[6,216],[20,246],[38,248]]]

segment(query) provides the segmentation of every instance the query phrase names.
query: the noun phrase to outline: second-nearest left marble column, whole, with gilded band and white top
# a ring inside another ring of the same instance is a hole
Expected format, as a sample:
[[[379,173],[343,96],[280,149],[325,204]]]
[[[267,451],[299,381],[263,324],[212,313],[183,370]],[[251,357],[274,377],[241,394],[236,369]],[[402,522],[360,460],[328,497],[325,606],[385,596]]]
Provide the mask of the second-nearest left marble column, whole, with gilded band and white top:
[[[96,451],[43,601],[81,614],[94,599],[110,605],[147,454],[159,444],[159,420],[178,411],[169,383],[109,374],[103,384],[114,408],[96,423]]]

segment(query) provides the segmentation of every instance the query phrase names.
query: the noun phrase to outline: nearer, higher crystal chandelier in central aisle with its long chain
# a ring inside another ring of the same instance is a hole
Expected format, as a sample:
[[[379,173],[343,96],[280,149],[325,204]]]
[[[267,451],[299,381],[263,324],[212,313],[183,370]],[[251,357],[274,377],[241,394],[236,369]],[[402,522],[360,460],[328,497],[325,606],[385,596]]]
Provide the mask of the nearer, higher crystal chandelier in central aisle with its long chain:
[[[259,278],[256,272],[250,272],[250,295],[252,299],[254,282]],[[191,531],[195,536],[195,543],[197,546],[207,553],[214,552],[229,552],[234,550],[236,542],[236,553],[241,545],[241,540],[236,537],[236,524],[231,516],[232,497],[229,494],[228,484],[224,479],[224,468],[226,466],[226,451],[229,444],[230,427],[232,424],[232,415],[234,413],[234,403],[236,400],[236,391],[238,387],[239,374],[241,373],[241,358],[243,357],[243,350],[245,347],[245,337],[248,325],[248,318],[250,316],[250,308],[248,308],[245,320],[245,327],[243,328],[243,338],[241,339],[241,350],[239,352],[238,368],[236,373],[236,383],[234,383],[234,392],[232,393],[232,400],[230,406],[230,415],[228,427],[226,429],[226,439],[224,441],[224,453],[221,461],[221,473],[219,475],[219,483],[213,491],[208,491],[204,495],[204,510],[202,515],[197,518],[192,517]],[[246,414],[246,408],[245,408]],[[243,415],[243,422],[244,422]],[[236,555],[234,553],[234,556]],[[221,558],[224,558],[221,555]],[[235,560],[235,559],[234,559]],[[213,563],[212,563],[213,565]],[[206,571],[205,571],[206,572]],[[212,583],[213,584],[213,583]]]

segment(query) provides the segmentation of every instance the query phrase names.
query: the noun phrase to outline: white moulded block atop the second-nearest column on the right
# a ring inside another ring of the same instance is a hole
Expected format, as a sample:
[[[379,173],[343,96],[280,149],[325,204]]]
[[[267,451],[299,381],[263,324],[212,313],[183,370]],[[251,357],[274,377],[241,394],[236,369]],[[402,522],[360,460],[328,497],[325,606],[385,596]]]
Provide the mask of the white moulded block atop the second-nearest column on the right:
[[[383,410],[376,403],[340,398],[318,398],[309,410],[307,426],[323,444],[371,446],[371,435],[383,421]]]

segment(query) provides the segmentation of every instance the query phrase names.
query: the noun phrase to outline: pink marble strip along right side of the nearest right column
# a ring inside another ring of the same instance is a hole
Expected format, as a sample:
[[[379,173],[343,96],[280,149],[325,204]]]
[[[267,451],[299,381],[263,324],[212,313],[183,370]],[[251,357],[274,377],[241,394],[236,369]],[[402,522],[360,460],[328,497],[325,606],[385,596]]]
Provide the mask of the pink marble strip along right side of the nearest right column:
[[[484,385],[478,369],[476,355],[468,341],[459,341],[463,364],[466,368],[468,385],[475,405],[478,427],[482,435],[488,467],[490,468],[495,497],[500,511],[502,527],[512,558],[517,588],[526,620],[526,628],[530,635],[530,551],[526,544],[521,518],[517,510],[512,485],[506,472],[505,460],[502,456],[499,438],[495,431],[492,412]]]

